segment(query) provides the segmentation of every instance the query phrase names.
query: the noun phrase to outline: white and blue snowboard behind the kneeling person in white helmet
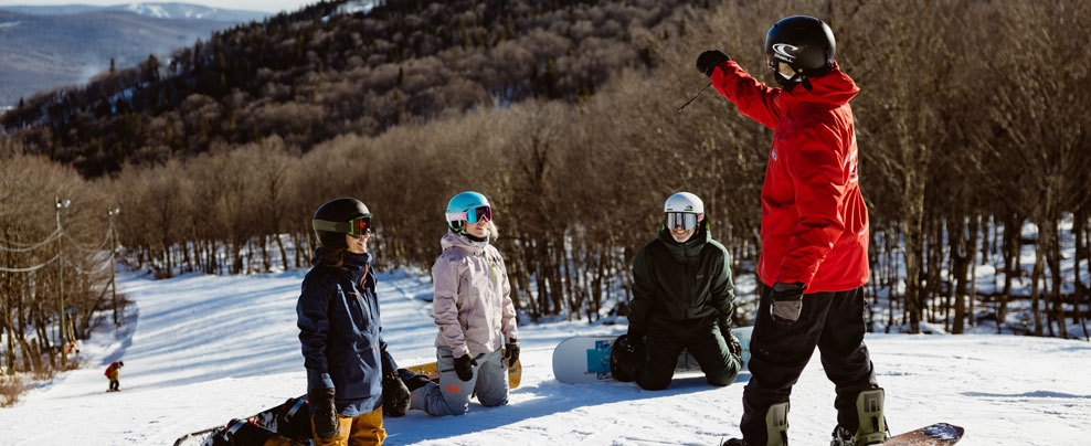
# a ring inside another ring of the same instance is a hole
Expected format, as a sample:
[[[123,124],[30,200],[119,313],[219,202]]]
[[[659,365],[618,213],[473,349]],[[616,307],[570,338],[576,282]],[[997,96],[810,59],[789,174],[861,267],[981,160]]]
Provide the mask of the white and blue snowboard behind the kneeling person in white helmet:
[[[741,327],[731,330],[742,346],[742,367],[750,363],[750,332],[753,327]],[[553,349],[553,376],[557,381],[580,384],[599,381],[613,381],[610,371],[610,352],[613,350],[616,336],[580,336],[561,341]],[[689,352],[678,355],[675,373],[700,372],[701,367]]]

